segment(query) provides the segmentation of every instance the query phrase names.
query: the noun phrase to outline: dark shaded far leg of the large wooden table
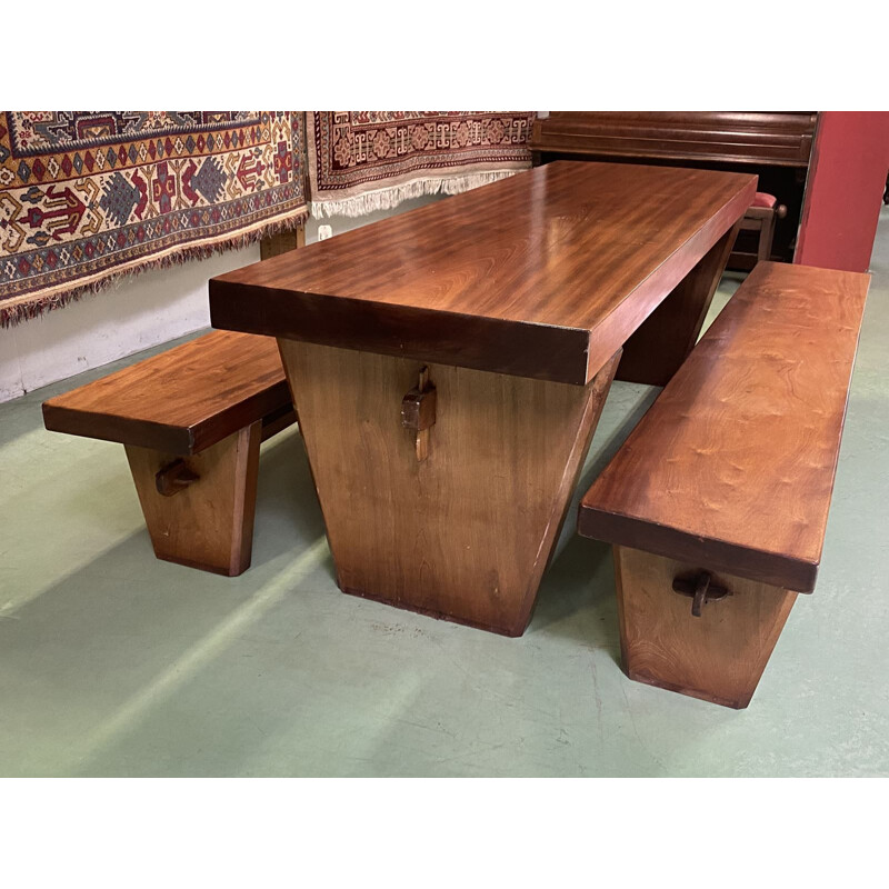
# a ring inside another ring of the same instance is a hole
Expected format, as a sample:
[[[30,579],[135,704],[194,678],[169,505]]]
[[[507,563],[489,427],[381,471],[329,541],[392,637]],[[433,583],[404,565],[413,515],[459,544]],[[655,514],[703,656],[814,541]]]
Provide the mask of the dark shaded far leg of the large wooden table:
[[[623,344],[615,379],[666,386],[695,348],[719,279],[738,237],[739,220]]]

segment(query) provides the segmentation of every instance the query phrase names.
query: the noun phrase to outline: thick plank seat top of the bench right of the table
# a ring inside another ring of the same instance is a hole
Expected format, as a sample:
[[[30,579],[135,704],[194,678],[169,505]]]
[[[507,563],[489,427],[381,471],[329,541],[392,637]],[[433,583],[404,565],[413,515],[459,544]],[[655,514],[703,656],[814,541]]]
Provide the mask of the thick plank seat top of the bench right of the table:
[[[593,482],[579,532],[811,591],[868,284],[760,262]]]

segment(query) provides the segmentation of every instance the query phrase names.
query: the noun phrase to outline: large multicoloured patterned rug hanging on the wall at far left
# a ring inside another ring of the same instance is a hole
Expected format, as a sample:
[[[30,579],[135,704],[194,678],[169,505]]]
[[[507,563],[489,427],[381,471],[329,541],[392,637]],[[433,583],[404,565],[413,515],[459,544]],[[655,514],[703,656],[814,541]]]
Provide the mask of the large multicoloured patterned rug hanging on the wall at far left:
[[[0,112],[0,324],[307,213],[301,111]]]

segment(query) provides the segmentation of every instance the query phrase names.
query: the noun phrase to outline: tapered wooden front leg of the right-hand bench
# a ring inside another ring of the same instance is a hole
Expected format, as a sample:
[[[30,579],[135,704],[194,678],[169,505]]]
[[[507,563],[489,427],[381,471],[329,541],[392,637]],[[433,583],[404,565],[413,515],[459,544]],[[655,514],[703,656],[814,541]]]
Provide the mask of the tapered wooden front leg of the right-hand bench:
[[[698,575],[683,565],[615,547],[623,669],[630,679],[726,707],[750,703],[796,592],[715,573],[731,593],[691,613],[673,579]]]

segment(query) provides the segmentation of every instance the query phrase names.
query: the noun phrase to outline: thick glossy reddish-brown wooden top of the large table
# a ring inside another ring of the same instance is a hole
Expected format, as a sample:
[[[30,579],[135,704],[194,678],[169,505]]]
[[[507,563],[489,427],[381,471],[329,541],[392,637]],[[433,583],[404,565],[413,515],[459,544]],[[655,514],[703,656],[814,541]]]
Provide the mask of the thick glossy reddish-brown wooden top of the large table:
[[[211,320],[583,384],[743,216],[756,183],[557,161],[213,278]]]

